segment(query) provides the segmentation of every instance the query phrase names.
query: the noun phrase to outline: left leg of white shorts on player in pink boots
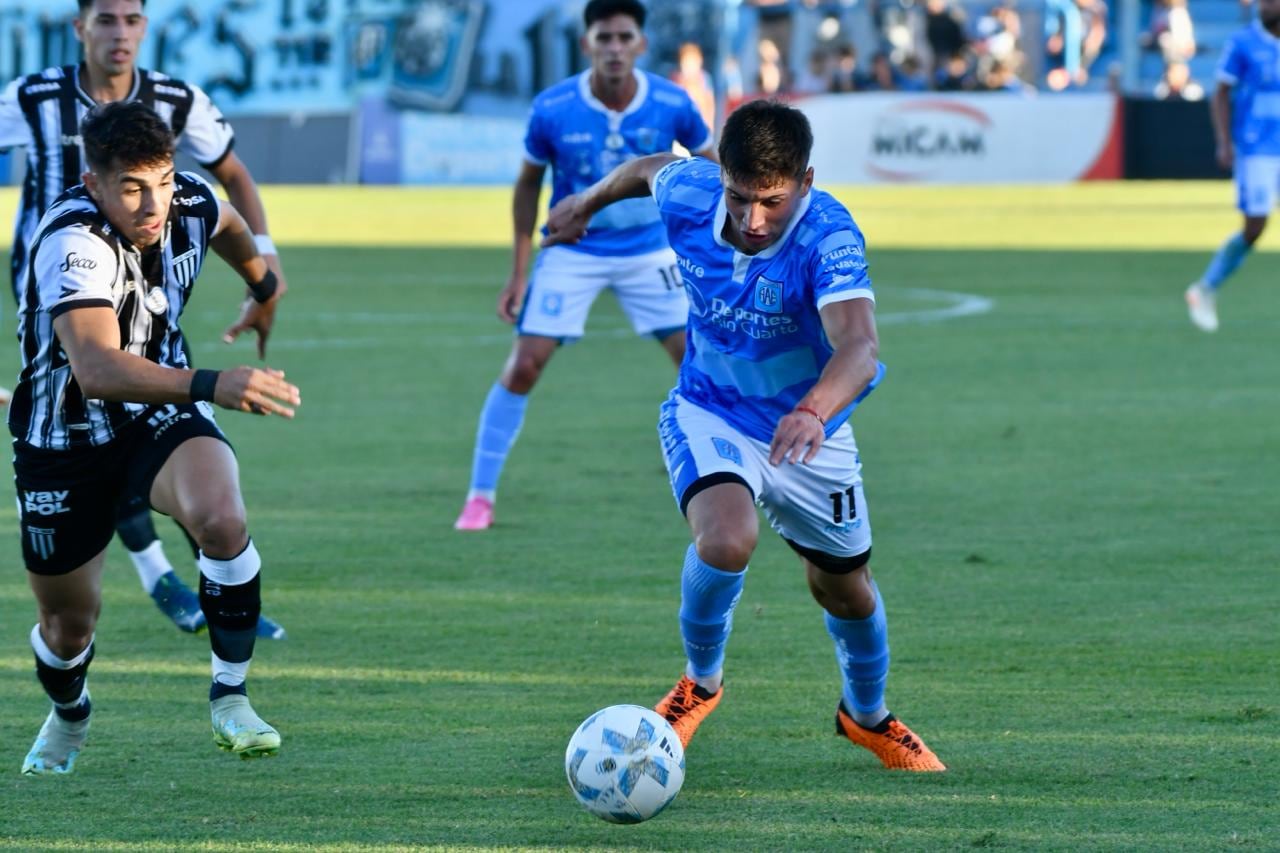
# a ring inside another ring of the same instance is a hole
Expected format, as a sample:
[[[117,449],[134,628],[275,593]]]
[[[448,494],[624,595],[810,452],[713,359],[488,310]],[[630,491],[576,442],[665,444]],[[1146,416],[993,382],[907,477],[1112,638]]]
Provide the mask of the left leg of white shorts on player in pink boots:
[[[516,330],[558,339],[582,337],[591,304],[609,283],[609,260],[563,246],[541,250]]]

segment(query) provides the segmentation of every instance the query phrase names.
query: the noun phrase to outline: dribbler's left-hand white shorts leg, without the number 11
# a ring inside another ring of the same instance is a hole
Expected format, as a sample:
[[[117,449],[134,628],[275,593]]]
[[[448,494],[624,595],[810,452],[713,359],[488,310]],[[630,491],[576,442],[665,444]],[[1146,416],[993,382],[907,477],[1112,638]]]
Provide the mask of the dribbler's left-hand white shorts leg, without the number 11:
[[[768,462],[759,442],[680,394],[671,394],[662,405],[658,437],[672,496],[682,514],[699,492],[721,483],[741,483],[753,501],[764,488]]]

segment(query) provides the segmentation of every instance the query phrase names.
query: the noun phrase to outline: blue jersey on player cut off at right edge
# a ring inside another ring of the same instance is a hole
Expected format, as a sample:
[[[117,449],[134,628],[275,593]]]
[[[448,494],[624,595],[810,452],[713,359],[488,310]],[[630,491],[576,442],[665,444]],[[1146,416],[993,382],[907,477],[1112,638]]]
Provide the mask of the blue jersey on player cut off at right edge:
[[[1234,88],[1236,155],[1280,155],[1280,38],[1257,22],[1239,31],[1222,50],[1217,78]]]

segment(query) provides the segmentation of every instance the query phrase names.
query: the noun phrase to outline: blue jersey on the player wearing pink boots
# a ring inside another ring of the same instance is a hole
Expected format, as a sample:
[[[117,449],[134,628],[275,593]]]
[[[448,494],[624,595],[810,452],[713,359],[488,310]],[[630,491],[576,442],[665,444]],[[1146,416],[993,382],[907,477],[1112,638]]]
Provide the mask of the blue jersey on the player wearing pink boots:
[[[701,151],[712,136],[682,88],[636,70],[636,95],[620,111],[591,93],[590,72],[552,86],[536,99],[525,134],[525,158],[552,167],[552,206],[586,190],[614,167],[680,142]],[[545,229],[544,229],[545,233]],[[596,214],[586,234],[568,248],[589,255],[644,255],[667,247],[652,199],[630,199]]]

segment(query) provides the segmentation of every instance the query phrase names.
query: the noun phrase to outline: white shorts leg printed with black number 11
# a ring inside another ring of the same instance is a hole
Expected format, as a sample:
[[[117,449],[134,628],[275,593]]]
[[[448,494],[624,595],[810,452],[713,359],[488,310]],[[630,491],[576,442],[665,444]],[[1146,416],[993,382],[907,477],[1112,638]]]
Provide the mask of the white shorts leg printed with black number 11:
[[[805,465],[783,462],[760,496],[764,517],[778,535],[810,562],[847,565],[872,547],[861,465],[847,424]]]

